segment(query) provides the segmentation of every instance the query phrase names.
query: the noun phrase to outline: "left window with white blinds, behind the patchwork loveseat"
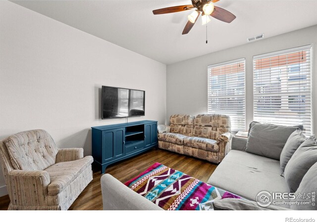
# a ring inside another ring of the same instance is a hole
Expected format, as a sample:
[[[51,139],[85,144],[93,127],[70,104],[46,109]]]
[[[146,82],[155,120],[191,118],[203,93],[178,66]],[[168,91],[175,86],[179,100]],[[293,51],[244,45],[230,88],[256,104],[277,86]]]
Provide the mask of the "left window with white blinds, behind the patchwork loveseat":
[[[208,66],[208,113],[229,115],[232,131],[245,130],[245,59]]]

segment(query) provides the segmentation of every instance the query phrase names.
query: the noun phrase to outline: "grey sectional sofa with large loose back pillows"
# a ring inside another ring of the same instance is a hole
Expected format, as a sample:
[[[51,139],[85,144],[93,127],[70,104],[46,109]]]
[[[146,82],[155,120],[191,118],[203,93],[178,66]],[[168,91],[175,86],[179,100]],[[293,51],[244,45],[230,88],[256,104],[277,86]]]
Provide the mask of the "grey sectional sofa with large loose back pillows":
[[[261,209],[255,202],[261,191],[292,192],[297,196],[316,192],[316,172],[315,136],[306,138],[298,126],[285,127],[252,122],[249,137],[233,138],[232,150],[212,173],[208,184],[246,199],[240,202],[236,199],[217,200],[214,202],[214,208],[255,210]],[[151,201],[135,195],[134,191],[111,175],[103,175],[101,184],[105,210],[160,210]],[[262,209],[317,210],[312,204],[275,206],[270,205]]]

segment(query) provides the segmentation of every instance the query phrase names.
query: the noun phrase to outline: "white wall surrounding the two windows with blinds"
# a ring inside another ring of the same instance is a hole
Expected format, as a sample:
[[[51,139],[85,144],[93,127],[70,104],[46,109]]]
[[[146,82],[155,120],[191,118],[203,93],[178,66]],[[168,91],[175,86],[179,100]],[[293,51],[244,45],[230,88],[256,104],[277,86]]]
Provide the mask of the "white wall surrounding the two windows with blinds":
[[[209,42],[216,44],[216,42]],[[207,66],[246,59],[246,125],[253,120],[253,56],[302,45],[313,44],[313,90],[317,85],[317,26],[297,30],[276,37],[240,45],[167,66],[166,120],[172,114],[207,113]],[[313,119],[317,120],[317,90],[313,92]],[[313,121],[315,133],[317,121]]]

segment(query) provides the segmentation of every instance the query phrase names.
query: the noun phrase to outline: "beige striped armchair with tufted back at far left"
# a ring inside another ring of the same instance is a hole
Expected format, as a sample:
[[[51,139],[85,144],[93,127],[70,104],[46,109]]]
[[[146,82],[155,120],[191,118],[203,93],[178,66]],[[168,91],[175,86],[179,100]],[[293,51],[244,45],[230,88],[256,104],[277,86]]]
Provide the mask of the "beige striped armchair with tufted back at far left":
[[[45,130],[0,141],[9,210],[67,210],[92,181],[92,156],[83,148],[57,148]]]

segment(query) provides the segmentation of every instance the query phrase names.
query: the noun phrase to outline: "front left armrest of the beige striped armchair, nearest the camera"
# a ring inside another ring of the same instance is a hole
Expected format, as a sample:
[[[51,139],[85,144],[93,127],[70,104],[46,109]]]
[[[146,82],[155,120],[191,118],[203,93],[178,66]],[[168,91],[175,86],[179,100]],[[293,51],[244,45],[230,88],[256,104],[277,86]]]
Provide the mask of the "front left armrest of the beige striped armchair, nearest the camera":
[[[47,204],[50,175],[43,170],[12,170],[7,174],[11,202],[19,206],[45,206]]]

